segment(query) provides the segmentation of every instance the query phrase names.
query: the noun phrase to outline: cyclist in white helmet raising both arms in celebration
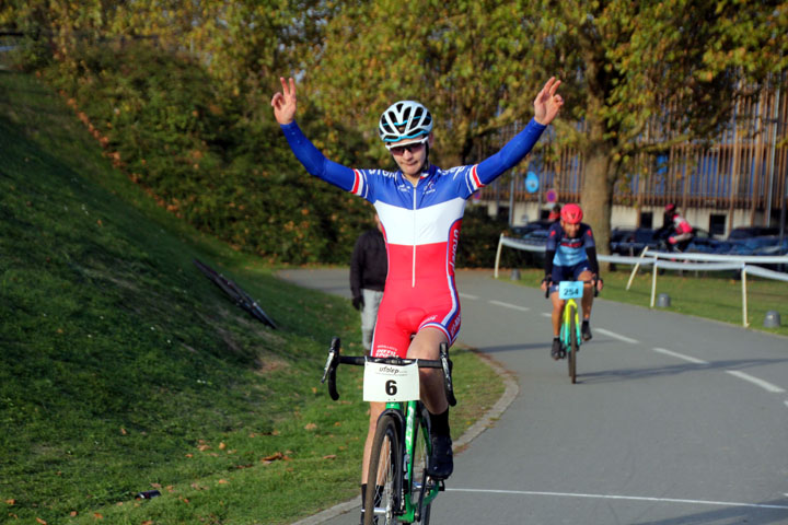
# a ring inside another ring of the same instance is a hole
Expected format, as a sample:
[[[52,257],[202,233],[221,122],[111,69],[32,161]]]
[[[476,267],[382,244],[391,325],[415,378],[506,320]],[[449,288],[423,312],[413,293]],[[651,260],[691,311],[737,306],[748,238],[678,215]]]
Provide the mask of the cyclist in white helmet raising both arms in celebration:
[[[298,160],[310,174],[372,202],[383,226],[389,275],[371,355],[438,359],[440,343],[453,343],[460,330],[454,257],[466,199],[531,151],[564,104],[556,94],[560,81],[555,78],[547,81],[534,100],[534,118],[498,153],[478,164],[451,170],[429,162],[430,112],[414,101],[392,104],[379,122],[380,138],[398,167],[390,172],[352,170],[326,159],[296,124],[296,82],[280,80],[282,91],[274,95],[271,106]],[[442,372],[422,369],[420,383],[421,400],[430,412],[433,435],[428,472],[434,479],[445,479],[452,474],[454,463]],[[370,447],[378,418],[384,409],[383,402],[372,402],[370,407],[362,498],[367,490]]]

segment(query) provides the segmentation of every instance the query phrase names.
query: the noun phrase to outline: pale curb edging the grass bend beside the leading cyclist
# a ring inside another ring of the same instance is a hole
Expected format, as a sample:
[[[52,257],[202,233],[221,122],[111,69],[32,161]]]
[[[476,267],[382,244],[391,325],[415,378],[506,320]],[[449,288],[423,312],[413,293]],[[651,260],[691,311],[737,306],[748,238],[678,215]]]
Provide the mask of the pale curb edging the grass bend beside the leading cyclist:
[[[514,400],[517,395],[520,393],[520,387],[517,384],[517,381],[514,381],[514,375],[506,370],[500,363],[498,363],[495,359],[490,358],[489,355],[474,351],[476,355],[478,355],[480,359],[483,359],[494,371],[498,376],[503,381],[503,395],[496,401],[495,405],[493,405],[493,408],[487,410],[487,412],[479,418],[478,421],[476,421],[474,424],[472,424],[464,433],[454,442],[454,451],[461,452],[463,451],[473,440],[475,440],[482,432],[487,430],[489,427],[493,425],[494,421],[497,420],[503,411],[511,405],[511,402]],[[361,508],[361,498],[354,498],[349,501],[346,501],[344,503],[336,504],[332,506],[331,509],[326,509],[325,511],[318,512],[317,514],[305,517],[301,521],[293,522],[291,525],[318,525],[321,523],[327,522],[328,520],[332,520],[336,516],[339,516],[341,514],[345,514],[347,512],[351,512],[354,510],[358,510]]]

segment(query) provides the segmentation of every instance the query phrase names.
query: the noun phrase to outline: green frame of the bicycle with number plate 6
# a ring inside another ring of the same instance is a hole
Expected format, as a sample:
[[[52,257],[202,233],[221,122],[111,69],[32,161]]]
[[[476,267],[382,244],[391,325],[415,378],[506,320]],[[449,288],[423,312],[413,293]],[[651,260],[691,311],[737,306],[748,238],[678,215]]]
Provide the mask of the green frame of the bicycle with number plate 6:
[[[403,405],[405,405],[405,407],[403,407]],[[417,401],[407,401],[406,404],[386,404],[386,410],[396,410],[397,412],[403,413],[403,409],[405,409],[405,435],[403,436],[405,457],[403,460],[403,487],[399,493],[402,514],[397,516],[401,522],[405,523],[414,523],[416,521],[416,509],[418,508],[418,501],[413,501],[412,494],[418,494],[421,483],[420,479],[414,479],[414,468],[416,460],[415,450],[417,445],[416,406]],[[421,432],[427,435],[427,422],[424,419],[420,420],[420,425]],[[432,444],[429,442],[429,440],[426,440],[426,454],[429,456],[431,452],[430,447],[432,446]],[[421,506],[425,508],[426,505],[432,503],[432,500],[438,497],[438,492],[439,486],[438,483],[433,483],[431,488],[425,491],[424,502],[421,503]]]

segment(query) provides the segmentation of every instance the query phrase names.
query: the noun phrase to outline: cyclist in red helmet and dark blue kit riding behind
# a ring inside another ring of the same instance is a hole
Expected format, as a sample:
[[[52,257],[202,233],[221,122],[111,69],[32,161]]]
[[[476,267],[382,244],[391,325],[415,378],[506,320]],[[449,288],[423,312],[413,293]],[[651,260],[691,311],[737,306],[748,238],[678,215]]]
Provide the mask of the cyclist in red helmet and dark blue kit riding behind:
[[[560,281],[596,281],[596,289],[602,291],[602,278],[599,275],[596,261],[596,244],[594,243],[591,226],[582,221],[582,209],[578,205],[566,205],[560,211],[560,221],[553,223],[547,231],[545,246],[545,277],[542,279],[542,291],[551,290],[553,302],[553,347],[551,357],[555,360],[560,355],[560,329],[564,303],[558,298],[558,283]],[[591,307],[593,306],[592,283],[583,285],[583,296],[580,301],[582,310],[581,334],[583,341],[591,339]]]

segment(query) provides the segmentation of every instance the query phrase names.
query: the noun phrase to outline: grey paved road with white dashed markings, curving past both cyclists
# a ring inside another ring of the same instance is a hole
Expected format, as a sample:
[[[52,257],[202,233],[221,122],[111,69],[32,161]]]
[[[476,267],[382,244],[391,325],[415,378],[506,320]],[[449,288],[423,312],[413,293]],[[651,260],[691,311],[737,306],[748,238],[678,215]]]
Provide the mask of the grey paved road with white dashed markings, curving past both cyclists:
[[[347,270],[283,277],[348,296]],[[786,338],[599,298],[571,385],[541,293],[490,271],[457,285],[461,341],[520,393],[456,456],[432,524],[788,524]]]

